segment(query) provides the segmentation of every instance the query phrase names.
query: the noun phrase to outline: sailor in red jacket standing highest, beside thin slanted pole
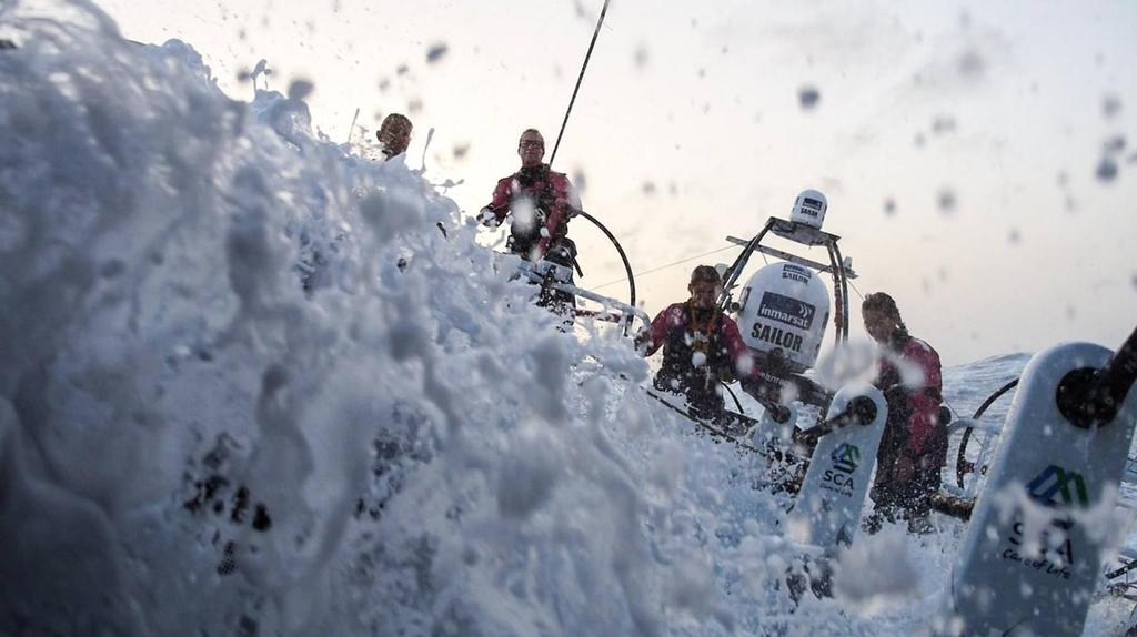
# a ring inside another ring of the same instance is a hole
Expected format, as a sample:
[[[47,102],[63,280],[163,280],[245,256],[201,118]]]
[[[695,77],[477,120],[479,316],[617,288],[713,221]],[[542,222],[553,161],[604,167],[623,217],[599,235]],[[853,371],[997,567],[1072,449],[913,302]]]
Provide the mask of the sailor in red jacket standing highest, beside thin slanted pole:
[[[498,182],[493,199],[482,208],[482,223],[498,226],[513,212],[509,250],[523,259],[571,266],[576,246],[566,236],[568,219],[581,210],[580,196],[563,173],[555,173],[545,158],[545,139],[536,128],[517,142],[521,169]]]

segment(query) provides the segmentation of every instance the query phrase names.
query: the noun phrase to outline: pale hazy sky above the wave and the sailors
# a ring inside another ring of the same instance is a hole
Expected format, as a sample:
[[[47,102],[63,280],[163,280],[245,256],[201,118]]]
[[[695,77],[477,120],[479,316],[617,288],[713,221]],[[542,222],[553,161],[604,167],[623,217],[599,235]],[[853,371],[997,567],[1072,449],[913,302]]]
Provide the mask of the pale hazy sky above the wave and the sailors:
[[[433,127],[425,176],[464,181],[448,194],[467,215],[517,168],[522,129],[551,152],[601,5],[99,2],[127,37],[193,45],[234,99],[251,98],[238,76],[262,58],[272,89],[312,81],[314,124],[334,141],[356,108],[368,137],[406,112],[418,167]],[[890,292],[946,363],[1117,347],[1137,325],[1135,33],[1128,0],[612,0],[554,168],[583,176],[586,210],[637,273],[749,237],[814,187],[856,287]],[[802,87],[820,93],[812,109]],[[570,236],[580,285],[623,277],[588,221]],[[638,276],[645,309],[736,254]],[[626,299],[624,283],[598,291]]]

